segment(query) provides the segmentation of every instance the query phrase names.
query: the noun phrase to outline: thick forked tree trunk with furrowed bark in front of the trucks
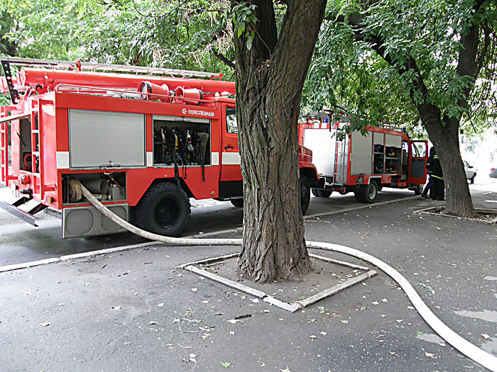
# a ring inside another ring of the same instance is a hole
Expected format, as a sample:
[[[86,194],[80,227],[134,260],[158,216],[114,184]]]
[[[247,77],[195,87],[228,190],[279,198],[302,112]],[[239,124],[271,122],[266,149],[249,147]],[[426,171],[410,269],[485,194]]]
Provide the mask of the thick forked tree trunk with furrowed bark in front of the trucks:
[[[299,280],[312,266],[300,210],[297,115],[326,1],[286,1],[279,38],[273,2],[251,3],[258,18],[251,50],[246,34],[235,40],[244,176],[239,274],[260,282]]]

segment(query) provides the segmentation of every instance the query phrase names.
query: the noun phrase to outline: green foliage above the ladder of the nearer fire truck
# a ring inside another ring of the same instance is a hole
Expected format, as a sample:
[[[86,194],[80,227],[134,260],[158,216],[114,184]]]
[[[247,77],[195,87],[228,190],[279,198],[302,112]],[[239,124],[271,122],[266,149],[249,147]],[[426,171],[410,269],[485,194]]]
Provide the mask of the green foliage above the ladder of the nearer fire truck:
[[[228,7],[228,0],[18,0],[4,7],[13,20],[6,37],[18,57],[230,74],[216,57],[233,60]]]

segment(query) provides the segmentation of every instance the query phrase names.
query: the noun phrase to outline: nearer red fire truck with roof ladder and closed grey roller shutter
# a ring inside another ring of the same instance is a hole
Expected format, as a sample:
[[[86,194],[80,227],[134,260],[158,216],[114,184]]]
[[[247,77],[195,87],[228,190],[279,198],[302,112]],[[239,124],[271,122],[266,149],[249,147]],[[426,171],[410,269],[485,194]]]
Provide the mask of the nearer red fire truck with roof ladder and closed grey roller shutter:
[[[1,208],[33,225],[40,210],[58,211],[66,238],[122,231],[82,198],[76,179],[119,217],[161,235],[182,232],[189,198],[243,205],[235,86],[222,75],[0,62],[13,102],[0,108],[0,181],[19,198]],[[21,66],[16,77],[12,65]],[[305,212],[318,177],[302,146],[299,162]],[[18,208],[27,201],[37,204]]]

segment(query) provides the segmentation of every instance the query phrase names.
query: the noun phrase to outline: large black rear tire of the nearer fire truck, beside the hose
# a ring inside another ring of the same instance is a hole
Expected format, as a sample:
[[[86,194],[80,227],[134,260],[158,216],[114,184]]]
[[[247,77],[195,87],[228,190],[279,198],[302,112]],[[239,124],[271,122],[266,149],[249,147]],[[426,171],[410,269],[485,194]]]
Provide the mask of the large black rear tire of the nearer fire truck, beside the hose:
[[[135,221],[143,230],[178,236],[190,221],[190,199],[177,184],[156,184],[136,205]]]

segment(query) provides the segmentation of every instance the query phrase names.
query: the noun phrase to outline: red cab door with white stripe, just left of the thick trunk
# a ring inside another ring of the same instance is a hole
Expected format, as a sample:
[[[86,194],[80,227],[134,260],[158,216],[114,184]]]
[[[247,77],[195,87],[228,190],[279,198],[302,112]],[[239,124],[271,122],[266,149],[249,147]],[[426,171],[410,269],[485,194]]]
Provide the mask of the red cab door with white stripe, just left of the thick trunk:
[[[240,151],[235,106],[223,106],[219,196],[241,196]]]

